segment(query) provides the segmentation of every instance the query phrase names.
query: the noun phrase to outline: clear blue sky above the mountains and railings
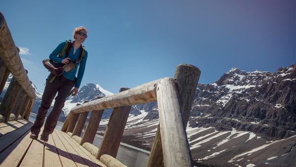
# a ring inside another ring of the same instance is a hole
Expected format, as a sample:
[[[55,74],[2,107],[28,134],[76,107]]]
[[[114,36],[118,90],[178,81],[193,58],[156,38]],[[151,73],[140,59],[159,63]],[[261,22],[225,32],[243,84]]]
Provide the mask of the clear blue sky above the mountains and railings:
[[[296,63],[296,0],[4,0],[0,12],[40,92],[41,61],[78,26],[88,30],[80,87],[113,93],[173,77],[182,63],[201,70],[199,83]]]

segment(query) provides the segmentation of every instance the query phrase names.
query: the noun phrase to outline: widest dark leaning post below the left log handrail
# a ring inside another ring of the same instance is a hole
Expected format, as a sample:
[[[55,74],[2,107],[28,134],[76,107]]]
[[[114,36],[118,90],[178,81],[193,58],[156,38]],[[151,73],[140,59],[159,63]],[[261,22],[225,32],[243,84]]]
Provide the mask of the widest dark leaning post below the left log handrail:
[[[5,118],[5,122],[9,120],[12,109],[16,103],[17,98],[15,97],[19,95],[20,91],[21,86],[13,77],[0,104],[0,114]]]

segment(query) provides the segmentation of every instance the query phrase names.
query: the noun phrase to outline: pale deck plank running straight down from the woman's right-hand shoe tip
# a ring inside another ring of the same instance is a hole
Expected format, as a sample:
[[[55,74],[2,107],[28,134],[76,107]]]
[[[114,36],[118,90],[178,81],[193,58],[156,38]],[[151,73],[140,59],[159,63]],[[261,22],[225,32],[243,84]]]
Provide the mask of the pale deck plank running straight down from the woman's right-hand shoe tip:
[[[49,134],[48,141],[44,145],[43,167],[62,167],[57,148],[54,144],[52,134]]]

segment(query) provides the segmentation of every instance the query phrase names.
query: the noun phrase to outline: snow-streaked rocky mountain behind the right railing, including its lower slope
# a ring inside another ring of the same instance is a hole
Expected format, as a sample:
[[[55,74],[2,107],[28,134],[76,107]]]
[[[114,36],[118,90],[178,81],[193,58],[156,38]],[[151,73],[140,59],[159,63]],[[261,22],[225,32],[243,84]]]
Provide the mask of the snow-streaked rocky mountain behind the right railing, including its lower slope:
[[[122,141],[150,150],[159,122],[157,103],[135,105],[132,112]],[[107,124],[101,122],[100,134]],[[233,68],[212,84],[198,84],[186,130],[197,161],[294,167],[296,64],[275,73]]]

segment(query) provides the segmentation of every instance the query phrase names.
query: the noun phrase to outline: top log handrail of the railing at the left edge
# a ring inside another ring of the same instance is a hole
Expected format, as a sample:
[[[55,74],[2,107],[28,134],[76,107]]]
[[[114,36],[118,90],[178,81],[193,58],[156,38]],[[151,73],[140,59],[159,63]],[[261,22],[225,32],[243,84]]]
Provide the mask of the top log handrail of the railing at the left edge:
[[[16,81],[24,88],[31,99],[35,99],[35,91],[24,69],[18,50],[6,24],[3,14],[0,12],[0,58],[7,66]]]

